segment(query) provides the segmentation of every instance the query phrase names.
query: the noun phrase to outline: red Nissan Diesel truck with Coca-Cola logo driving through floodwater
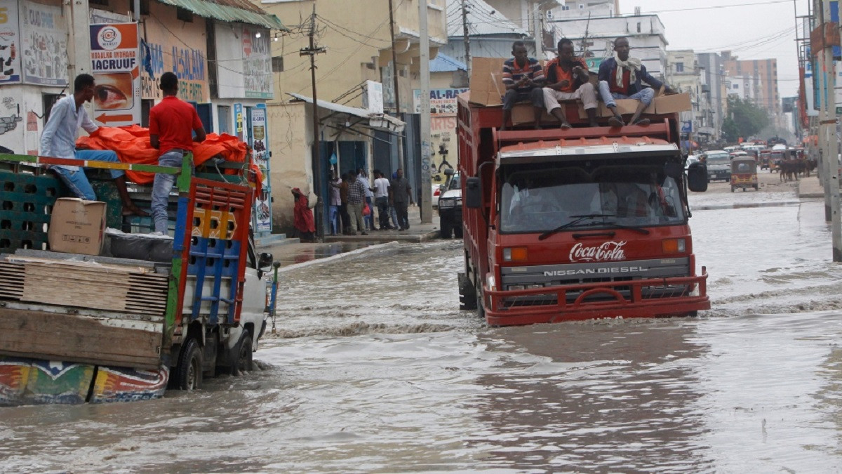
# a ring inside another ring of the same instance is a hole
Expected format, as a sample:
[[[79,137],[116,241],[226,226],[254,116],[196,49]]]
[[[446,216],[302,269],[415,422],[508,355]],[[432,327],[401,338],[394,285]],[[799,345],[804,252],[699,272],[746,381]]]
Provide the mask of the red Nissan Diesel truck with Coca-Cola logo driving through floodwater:
[[[708,310],[695,271],[678,115],[651,124],[498,131],[499,107],[459,98],[461,309],[489,325]],[[578,127],[581,126],[581,127]]]

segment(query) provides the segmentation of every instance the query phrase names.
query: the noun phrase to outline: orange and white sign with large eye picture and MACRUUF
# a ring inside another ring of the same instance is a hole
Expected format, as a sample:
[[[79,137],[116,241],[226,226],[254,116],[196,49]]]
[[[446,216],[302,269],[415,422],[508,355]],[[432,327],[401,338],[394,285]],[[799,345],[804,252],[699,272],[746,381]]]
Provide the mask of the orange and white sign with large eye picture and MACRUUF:
[[[93,120],[108,127],[141,121],[140,50],[136,23],[92,24]]]

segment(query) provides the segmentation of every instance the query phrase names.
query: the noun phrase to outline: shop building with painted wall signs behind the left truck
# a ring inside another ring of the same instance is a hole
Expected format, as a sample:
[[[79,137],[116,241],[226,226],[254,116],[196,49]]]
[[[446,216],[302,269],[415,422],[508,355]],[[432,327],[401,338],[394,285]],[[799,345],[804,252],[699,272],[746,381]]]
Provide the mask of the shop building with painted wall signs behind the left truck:
[[[279,19],[235,0],[196,0],[180,7],[141,0],[138,28],[127,24],[131,0],[86,5],[3,2],[0,45],[11,45],[16,54],[8,57],[0,75],[3,104],[13,116],[11,127],[0,129],[0,145],[18,154],[38,154],[52,105],[72,91],[77,73],[96,79],[98,91],[88,109],[95,122],[147,126],[149,110],[162,100],[157,79],[173,72],[179,98],[195,105],[207,132],[240,137],[256,150],[253,159],[268,165],[264,102],[273,94],[270,32],[285,30]],[[269,186],[260,200],[271,200]],[[270,230],[269,215],[261,216],[255,230]]]

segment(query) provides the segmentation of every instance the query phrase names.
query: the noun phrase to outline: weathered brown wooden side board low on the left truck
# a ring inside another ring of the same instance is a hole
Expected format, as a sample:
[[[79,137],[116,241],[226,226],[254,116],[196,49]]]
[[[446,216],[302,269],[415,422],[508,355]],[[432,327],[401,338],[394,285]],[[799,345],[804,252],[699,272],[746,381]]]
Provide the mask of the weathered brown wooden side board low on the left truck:
[[[137,325],[138,321],[0,308],[0,355],[158,369],[163,327]]]

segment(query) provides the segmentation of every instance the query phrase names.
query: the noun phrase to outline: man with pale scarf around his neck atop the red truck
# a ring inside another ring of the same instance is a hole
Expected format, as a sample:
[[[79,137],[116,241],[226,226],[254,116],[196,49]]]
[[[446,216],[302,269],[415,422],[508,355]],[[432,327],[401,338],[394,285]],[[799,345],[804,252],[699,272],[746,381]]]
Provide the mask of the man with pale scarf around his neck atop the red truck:
[[[640,104],[637,105],[637,110],[635,110],[629,123],[632,125],[647,125],[649,123],[649,119],[642,119],[640,115],[649,104],[652,104],[655,91],[642,86],[641,81],[655,89],[660,89],[663,86],[667,94],[674,94],[673,89],[669,89],[669,86],[646,72],[646,66],[643,66],[639,57],[629,57],[629,51],[631,51],[629,40],[625,36],[621,36],[614,40],[614,57],[609,57],[600,64],[600,96],[602,96],[605,106],[614,115],[608,120],[611,127],[625,125],[623,117],[617,112],[615,99],[639,101]]]

